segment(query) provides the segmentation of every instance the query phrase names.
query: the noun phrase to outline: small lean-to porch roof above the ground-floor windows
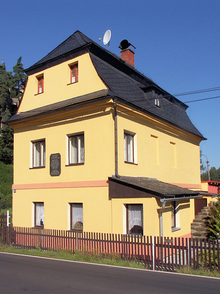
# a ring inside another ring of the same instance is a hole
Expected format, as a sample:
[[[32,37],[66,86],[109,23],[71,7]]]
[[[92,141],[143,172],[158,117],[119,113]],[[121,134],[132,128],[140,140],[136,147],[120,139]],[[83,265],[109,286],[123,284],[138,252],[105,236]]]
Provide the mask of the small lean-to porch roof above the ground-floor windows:
[[[134,189],[138,189],[160,198],[171,197],[189,197],[198,196],[199,191],[193,191],[185,188],[181,188],[175,185],[171,185],[165,182],[158,181],[154,178],[147,177],[132,177],[132,176],[115,176],[109,177],[110,181],[127,185]]]

